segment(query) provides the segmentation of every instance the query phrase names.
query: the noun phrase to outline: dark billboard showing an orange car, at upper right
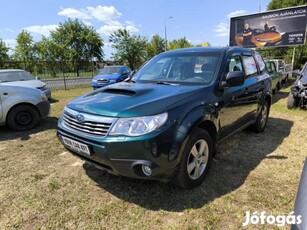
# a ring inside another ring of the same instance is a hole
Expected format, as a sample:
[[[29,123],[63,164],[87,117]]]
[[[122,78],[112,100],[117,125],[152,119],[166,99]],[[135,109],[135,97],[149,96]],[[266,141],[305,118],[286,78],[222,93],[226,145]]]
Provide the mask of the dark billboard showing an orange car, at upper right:
[[[303,45],[307,5],[244,15],[230,20],[230,46],[267,47]]]

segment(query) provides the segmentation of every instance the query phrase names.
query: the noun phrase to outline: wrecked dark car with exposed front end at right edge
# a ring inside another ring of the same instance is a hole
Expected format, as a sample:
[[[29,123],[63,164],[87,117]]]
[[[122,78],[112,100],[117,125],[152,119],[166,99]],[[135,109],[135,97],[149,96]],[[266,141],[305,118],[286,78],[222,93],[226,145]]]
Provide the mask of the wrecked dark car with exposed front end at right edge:
[[[296,81],[291,86],[288,96],[288,109],[307,108],[307,62],[302,70],[295,70],[293,74],[297,76]]]

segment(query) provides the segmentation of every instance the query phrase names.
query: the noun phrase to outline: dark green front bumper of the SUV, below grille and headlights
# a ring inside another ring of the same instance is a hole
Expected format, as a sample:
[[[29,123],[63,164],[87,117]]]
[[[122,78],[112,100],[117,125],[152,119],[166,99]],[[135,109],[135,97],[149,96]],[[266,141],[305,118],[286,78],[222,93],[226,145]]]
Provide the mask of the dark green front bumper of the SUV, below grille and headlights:
[[[170,153],[177,150],[174,150],[165,133],[147,139],[106,137],[97,141],[74,135],[59,125],[57,136],[72,154],[115,175],[137,179],[168,180],[177,167],[177,161],[169,159]],[[63,143],[62,136],[86,144],[91,154],[80,153],[69,148]],[[150,167],[152,174],[146,175],[142,171],[142,166]]]

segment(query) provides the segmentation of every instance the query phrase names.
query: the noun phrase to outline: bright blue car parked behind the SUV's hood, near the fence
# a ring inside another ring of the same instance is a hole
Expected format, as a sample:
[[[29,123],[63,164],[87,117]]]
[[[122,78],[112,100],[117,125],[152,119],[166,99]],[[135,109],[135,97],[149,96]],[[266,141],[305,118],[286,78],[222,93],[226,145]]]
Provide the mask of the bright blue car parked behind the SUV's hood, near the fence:
[[[124,81],[130,74],[128,66],[105,66],[99,70],[99,74],[92,80],[93,89],[109,84]]]

